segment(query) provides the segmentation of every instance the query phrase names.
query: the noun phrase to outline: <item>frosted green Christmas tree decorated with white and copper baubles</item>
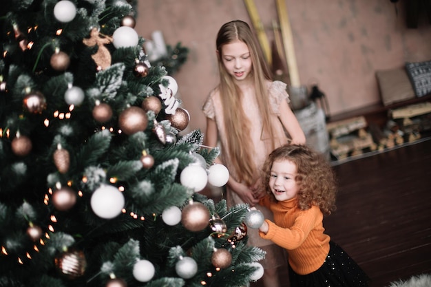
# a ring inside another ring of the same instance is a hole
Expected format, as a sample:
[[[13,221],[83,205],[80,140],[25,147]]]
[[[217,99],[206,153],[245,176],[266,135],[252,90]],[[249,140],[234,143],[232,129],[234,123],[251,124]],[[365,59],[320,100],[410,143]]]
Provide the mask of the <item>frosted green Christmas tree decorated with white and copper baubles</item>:
[[[248,207],[199,193],[229,171],[199,130],[180,136],[189,114],[147,59],[135,2],[2,1],[0,286],[244,286],[262,275]]]

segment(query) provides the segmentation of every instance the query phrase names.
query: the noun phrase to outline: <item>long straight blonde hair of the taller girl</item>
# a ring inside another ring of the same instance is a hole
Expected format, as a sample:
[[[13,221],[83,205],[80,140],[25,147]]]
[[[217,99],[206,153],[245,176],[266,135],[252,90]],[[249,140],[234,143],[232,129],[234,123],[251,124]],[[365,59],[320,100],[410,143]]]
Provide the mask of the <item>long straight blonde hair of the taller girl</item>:
[[[234,169],[239,171],[238,180],[250,185],[254,183],[254,180],[258,176],[257,167],[255,167],[253,162],[254,147],[250,138],[253,123],[249,123],[249,120],[246,120],[244,110],[241,108],[242,92],[222,62],[223,45],[235,40],[240,40],[249,47],[252,63],[251,76],[253,76],[257,107],[259,108],[263,123],[261,134],[271,139],[271,147],[274,149],[275,132],[270,120],[271,109],[268,98],[268,87],[266,85],[267,81],[272,81],[272,76],[250,26],[240,20],[222,25],[215,43],[218,51],[218,70],[220,72],[220,85],[218,89],[223,105],[224,127],[227,131],[228,150],[225,152],[229,153]]]

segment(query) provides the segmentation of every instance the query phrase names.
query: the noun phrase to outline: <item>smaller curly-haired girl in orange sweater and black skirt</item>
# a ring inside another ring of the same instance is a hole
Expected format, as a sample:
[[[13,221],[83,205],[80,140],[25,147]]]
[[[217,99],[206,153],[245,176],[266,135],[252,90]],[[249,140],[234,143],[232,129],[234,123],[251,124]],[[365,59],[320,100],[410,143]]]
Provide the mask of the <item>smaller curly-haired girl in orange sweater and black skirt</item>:
[[[291,286],[368,286],[366,273],[324,233],[337,192],[326,159],[306,145],[284,145],[268,156],[262,178],[260,203],[274,222],[265,220],[259,235],[287,250]]]

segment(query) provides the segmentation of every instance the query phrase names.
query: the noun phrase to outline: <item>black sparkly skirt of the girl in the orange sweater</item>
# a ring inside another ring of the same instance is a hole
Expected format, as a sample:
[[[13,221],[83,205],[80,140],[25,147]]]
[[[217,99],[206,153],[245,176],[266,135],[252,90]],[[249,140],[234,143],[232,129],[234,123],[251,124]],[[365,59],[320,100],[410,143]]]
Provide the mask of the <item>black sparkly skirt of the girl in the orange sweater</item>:
[[[370,279],[359,265],[334,242],[324,264],[313,273],[298,275],[289,266],[291,287],[367,287]]]

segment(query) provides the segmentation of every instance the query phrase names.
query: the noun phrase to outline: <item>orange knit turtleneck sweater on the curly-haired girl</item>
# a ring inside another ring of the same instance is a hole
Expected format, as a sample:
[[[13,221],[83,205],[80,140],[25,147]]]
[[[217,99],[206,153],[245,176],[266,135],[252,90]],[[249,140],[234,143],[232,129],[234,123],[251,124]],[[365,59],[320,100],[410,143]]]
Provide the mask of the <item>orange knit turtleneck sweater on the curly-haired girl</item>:
[[[286,248],[288,262],[295,273],[306,275],[319,269],[329,253],[329,235],[324,234],[323,213],[319,207],[302,211],[297,208],[297,200],[272,202],[268,197],[260,202],[274,213],[274,222],[269,224],[268,233],[260,232],[260,237],[271,240]]]

